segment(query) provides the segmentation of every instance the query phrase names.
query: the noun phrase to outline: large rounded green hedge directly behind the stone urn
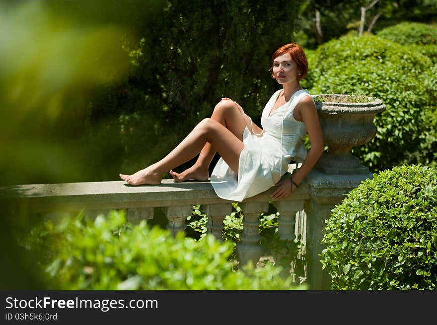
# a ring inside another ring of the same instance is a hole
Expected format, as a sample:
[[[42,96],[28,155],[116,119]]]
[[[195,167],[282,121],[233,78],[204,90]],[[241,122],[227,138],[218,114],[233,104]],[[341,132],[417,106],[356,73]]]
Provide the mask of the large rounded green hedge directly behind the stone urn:
[[[437,90],[429,58],[414,48],[364,35],[325,43],[308,52],[308,61],[303,84],[312,94],[364,94],[386,105],[375,116],[375,138],[353,149],[371,171],[436,163]]]

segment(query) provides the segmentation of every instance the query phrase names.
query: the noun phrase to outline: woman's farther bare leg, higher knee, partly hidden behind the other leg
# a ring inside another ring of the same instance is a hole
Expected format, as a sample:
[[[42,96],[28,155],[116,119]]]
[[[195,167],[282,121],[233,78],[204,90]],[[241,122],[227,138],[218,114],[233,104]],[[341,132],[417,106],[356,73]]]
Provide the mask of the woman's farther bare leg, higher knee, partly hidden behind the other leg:
[[[238,109],[233,101],[222,100],[214,108],[211,119],[226,127],[226,129],[230,130],[235,136],[242,140],[241,128],[243,128],[244,131],[246,124],[243,114],[244,112]],[[207,142],[193,166],[184,170],[182,173],[176,173],[170,170],[170,175],[176,182],[183,182],[189,179],[207,181],[209,178],[209,167],[216,152],[215,147]]]

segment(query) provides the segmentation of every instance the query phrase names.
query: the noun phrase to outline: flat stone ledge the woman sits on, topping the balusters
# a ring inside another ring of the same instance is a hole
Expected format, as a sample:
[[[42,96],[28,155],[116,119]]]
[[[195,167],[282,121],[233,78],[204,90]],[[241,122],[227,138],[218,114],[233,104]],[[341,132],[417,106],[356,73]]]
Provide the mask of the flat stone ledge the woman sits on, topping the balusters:
[[[243,202],[269,201],[270,189]],[[307,199],[309,188],[302,184],[284,201]],[[159,185],[131,186],[124,181],[61,184],[28,184],[0,188],[0,197],[24,203],[32,212],[80,209],[124,209],[231,203],[219,198],[209,181],[176,183],[162,180]]]

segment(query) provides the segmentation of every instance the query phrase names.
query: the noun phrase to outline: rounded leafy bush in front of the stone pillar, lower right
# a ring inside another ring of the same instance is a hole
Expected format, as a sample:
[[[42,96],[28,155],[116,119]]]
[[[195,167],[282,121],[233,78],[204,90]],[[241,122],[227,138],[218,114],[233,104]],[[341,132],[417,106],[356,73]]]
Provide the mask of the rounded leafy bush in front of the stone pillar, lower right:
[[[437,169],[367,179],[332,210],[322,242],[333,290],[436,290]]]

